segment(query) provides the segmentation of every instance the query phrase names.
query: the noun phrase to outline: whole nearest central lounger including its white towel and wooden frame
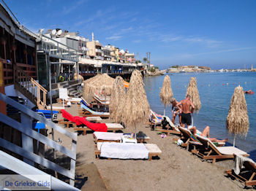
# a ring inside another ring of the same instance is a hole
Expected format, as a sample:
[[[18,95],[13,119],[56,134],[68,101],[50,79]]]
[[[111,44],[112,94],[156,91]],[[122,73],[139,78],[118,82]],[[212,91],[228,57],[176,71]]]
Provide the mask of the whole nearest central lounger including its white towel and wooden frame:
[[[148,159],[160,155],[162,151],[156,144],[133,144],[116,142],[98,142],[94,153],[97,158]]]

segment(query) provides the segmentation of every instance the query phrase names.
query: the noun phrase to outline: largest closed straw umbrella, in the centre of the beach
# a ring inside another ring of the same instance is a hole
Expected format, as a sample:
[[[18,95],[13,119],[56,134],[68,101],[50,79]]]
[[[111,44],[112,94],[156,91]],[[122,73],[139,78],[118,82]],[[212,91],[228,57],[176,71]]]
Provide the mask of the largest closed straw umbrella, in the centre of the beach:
[[[132,72],[126,95],[123,110],[124,122],[128,126],[134,126],[136,132],[136,125],[148,122],[149,113],[150,106],[144,90],[142,74],[135,70]]]

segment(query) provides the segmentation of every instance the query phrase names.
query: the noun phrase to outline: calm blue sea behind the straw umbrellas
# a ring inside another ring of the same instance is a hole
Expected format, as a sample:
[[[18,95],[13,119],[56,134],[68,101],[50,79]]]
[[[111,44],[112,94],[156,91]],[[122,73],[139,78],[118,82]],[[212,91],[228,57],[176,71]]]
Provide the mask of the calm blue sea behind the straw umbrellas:
[[[233,134],[226,129],[226,118],[235,87],[240,85],[244,90],[255,94],[245,94],[249,116],[249,131],[246,137],[236,136],[236,147],[249,152],[256,161],[256,72],[211,72],[211,73],[177,73],[167,74],[170,77],[173,97],[181,101],[187,93],[191,77],[197,79],[197,89],[202,107],[193,114],[193,122],[198,130],[210,126],[210,137],[226,139],[227,145],[233,145]],[[158,114],[164,114],[165,106],[161,103],[159,93],[165,76],[145,77],[144,84],[148,103]],[[172,118],[171,106],[165,115]],[[178,123],[178,117],[176,117]]]

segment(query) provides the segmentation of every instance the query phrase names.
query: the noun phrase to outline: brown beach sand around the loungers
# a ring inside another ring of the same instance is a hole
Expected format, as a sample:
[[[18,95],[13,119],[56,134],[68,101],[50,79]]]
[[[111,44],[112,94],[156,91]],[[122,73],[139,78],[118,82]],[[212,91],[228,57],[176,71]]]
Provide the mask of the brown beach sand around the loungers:
[[[66,110],[78,115],[78,106],[72,104]],[[62,118],[61,114],[58,117]],[[72,128],[65,129],[75,132]],[[126,128],[124,133],[132,130]],[[78,135],[77,167],[90,163],[97,165],[108,190],[244,190],[240,182],[225,176],[224,171],[233,168],[233,160],[215,164],[203,162],[191,152],[173,144],[176,136],[161,138],[148,125],[140,125],[139,130],[150,137],[148,143],[157,144],[162,150],[159,157],[151,161],[96,159],[91,132],[86,136]],[[55,139],[61,139],[62,145],[71,147],[70,141],[58,132],[55,132]]]

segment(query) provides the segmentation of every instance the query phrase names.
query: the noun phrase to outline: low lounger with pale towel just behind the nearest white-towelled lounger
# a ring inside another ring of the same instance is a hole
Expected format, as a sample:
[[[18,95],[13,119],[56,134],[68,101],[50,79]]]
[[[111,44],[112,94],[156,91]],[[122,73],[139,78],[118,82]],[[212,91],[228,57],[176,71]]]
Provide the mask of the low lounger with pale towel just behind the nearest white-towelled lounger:
[[[127,133],[125,133],[127,134]],[[94,132],[95,142],[121,142],[122,136],[124,133],[110,133],[110,132]],[[150,138],[148,136],[143,137],[142,139],[138,137],[137,141],[143,143],[148,141]]]

